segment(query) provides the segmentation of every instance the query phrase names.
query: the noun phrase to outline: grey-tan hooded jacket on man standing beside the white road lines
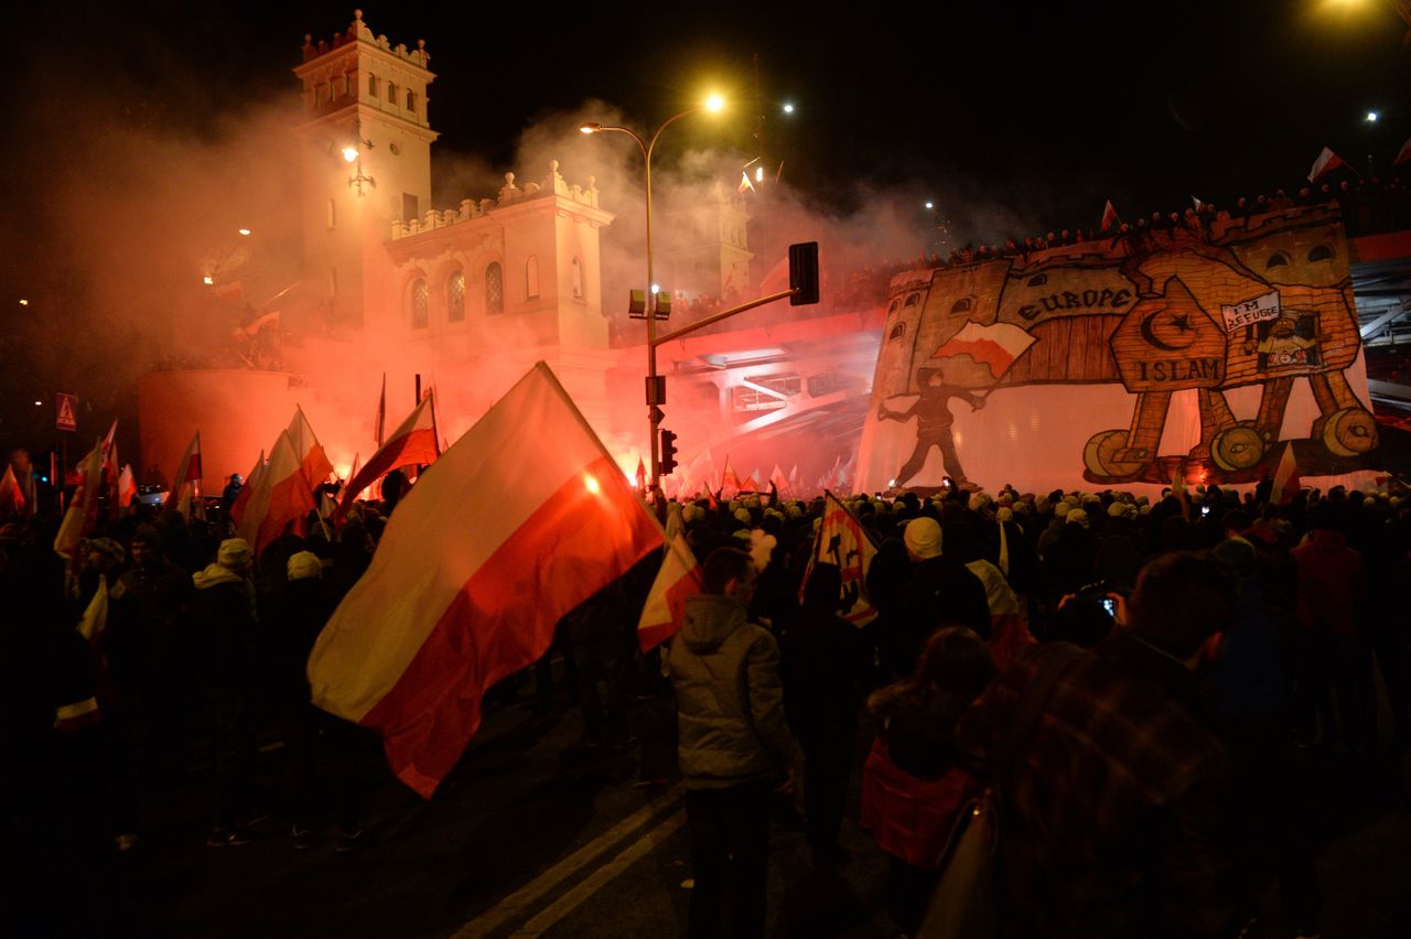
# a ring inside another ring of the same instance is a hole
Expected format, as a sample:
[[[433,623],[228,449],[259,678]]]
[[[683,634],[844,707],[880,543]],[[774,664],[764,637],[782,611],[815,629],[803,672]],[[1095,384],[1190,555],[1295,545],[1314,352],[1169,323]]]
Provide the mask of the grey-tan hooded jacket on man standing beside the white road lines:
[[[779,644],[746,622],[744,606],[713,594],[687,599],[667,663],[687,788],[741,785],[790,767],[794,740],[785,723]]]

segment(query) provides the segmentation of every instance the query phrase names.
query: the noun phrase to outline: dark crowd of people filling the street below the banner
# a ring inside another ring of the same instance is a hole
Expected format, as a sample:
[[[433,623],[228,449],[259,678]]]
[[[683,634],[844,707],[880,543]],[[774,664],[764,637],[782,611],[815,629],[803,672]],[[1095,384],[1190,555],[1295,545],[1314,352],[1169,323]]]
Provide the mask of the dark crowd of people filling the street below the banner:
[[[1411,501],[1336,486],[1278,506],[1268,484],[859,495],[864,584],[817,558],[804,577],[821,498],[676,505],[704,572],[680,636],[636,650],[653,554],[504,684],[536,675],[552,706],[562,654],[584,746],[639,747],[649,782],[684,777],[691,935],[762,933],[770,806],[794,782],[814,864],[847,864],[861,780],[855,819],[890,859],[904,935],[954,823],[998,785],[1006,935],[1235,935],[1277,883],[1278,915],[1312,936],[1302,754],[1356,764],[1411,742]],[[28,767],[4,774],[11,833],[45,863],[110,863],[141,849],[151,794],[199,766],[212,849],[279,828],[295,850],[365,847],[346,767],[377,742],[312,708],[303,665],[394,508],[336,529],[310,516],[258,558],[219,509],[100,520],[72,558],[55,519],[6,522],[0,713]],[[849,589],[875,610],[861,629],[840,618]],[[676,719],[638,740],[631,702],[653,695]],[[288,778],[257,785],[272,739]]]

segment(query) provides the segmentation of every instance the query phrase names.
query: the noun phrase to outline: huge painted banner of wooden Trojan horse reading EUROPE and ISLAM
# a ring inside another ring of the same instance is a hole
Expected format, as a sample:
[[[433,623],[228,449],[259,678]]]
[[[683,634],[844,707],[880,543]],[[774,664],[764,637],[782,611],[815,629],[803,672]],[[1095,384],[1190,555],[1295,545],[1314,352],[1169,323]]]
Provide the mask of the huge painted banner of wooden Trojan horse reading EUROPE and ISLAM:
[[[893,278],[859,489],[1379,468],[1348,240],[1291,209]]]

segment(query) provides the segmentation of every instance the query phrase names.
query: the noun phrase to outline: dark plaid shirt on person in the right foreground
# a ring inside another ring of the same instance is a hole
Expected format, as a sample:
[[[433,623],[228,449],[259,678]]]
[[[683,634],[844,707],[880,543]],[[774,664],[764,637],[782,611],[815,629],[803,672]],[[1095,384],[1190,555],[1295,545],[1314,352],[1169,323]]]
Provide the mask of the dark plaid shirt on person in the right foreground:
[[[981,763],[1044,649],[1022,653],[962,718]],[[1181,663],[1125,632],[1060,675],[1000,780],[1005,935],[1228,932],[1239,895],[1222,843],[1228,767],[1201,711]]]

